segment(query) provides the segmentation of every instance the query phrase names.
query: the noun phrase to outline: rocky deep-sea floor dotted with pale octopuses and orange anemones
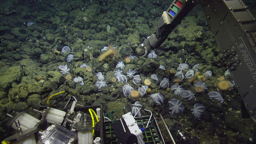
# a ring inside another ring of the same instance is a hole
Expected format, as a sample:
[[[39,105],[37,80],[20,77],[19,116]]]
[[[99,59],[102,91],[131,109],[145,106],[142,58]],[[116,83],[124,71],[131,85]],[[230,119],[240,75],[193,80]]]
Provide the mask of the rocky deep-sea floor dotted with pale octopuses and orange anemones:
[[[139,102],[156,114],[166,144],[159,113],[177,143],[185,143],[178,130],[195,144],[255,143],[256,122],[241,118],[241,96],[200,6],[160,48],[145,54],[140,46],[170,3],[1,0],[0,130],[7,131],[6,114],[37,117],[32,110],[40,102],[67,91],[49,102],[60,108],[75,96],[79,104],[115,110],[116,119]],[[256,15],[256,2],[245,3]]]

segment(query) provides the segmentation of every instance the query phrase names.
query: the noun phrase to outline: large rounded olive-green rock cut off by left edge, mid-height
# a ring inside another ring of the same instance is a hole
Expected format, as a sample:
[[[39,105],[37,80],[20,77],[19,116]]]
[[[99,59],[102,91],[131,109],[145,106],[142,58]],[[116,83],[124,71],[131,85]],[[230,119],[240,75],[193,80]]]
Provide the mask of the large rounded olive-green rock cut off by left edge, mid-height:
[[[22,75],[22,69],[18,66],[12,66],[5,71],[4,74],[0,75],[0,90],[4,91],[11,86],[11,83],[16,81]]]

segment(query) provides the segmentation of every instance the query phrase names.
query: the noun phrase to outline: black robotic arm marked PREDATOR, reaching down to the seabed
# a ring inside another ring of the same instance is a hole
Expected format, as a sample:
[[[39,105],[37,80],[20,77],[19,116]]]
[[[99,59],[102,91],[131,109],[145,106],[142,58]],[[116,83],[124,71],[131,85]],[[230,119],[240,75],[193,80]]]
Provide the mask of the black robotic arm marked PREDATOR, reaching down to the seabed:
[[[203,8],[242,106],[256,122],[256,18],[242,0],[173,0],[157,29],[144,41],[147,51],[158,48],[196,4]]]

